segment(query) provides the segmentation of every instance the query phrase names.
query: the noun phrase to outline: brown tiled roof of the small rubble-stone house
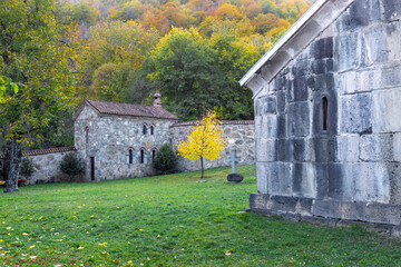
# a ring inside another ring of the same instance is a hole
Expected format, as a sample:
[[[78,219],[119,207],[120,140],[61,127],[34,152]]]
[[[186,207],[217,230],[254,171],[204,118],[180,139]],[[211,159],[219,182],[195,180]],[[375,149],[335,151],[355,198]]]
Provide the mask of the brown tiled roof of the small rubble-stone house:
[[[172,119],[178,118],[162,107],[141,106],[120,102],[107,102],[99,100],[85,100],[89,106],[95,108],[101,115],[120,115],[120,116],[134,116],[134,117],[149,117],[157,119]],[[78,110],[79,112],[80,110]]]

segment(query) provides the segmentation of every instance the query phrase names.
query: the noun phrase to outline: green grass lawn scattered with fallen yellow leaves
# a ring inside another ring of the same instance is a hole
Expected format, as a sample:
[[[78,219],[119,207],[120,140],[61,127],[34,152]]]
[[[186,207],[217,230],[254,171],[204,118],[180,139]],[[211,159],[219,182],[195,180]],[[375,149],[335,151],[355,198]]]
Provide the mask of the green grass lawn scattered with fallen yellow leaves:
[[[254,166],[0,195],[0,266],[401,266],[401,241],[244,212]]]

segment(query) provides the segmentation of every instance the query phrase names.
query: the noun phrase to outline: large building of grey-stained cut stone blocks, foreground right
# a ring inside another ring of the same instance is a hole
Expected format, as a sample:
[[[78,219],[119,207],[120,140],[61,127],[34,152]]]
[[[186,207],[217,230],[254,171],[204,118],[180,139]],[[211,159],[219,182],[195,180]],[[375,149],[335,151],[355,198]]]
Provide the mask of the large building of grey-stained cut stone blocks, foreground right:
[[[401,1],[317,0],[242,78],[253,90],[251,210],[401,225]]]

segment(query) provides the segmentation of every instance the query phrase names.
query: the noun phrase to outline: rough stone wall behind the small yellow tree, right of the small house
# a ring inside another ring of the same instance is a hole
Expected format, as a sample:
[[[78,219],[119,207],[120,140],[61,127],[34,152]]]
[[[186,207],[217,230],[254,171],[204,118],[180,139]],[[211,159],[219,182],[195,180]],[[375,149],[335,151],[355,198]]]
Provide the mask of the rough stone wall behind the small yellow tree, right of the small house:
[[[194,128],[195,122],[176,123],[170,127],[172,144],[184,140]],[[239,165],[255,164],[255,126],[253,120],[246,121],[223,121],[221,128],[224,131],[224,138],[227,138],[227,147],[221,154],[221,158],[214,161],[205,160],[205,168],[216,168],[231,166],[231,150],[236,149],[237,156],[241,157]],[[179,157],[178,168],[184,171],[199,170],[200,160],[189,160]]]

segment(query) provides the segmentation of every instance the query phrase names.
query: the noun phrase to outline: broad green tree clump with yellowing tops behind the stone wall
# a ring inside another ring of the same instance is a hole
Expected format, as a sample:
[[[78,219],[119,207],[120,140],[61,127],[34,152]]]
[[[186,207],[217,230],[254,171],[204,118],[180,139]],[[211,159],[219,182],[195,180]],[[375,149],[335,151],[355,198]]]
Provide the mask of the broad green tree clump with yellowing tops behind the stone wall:
[[[234,33],[203,38],[195,29],[173,29],[150,55],[151,78],[167,107],[184,120],[204,109],[221,119],[253,118],[252,92],[237,80],[257,60],[257,49]]]

